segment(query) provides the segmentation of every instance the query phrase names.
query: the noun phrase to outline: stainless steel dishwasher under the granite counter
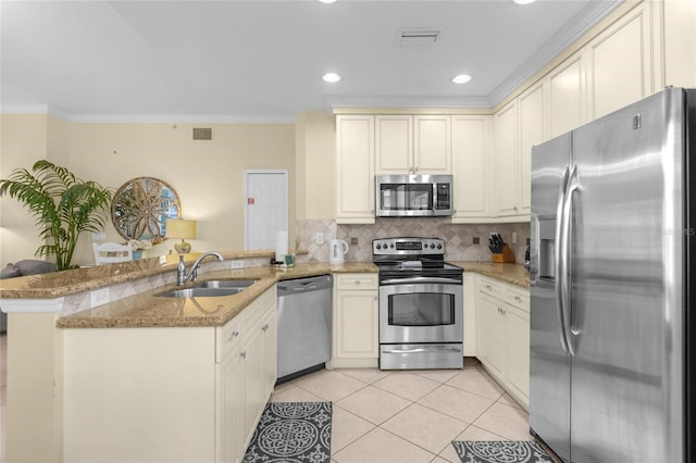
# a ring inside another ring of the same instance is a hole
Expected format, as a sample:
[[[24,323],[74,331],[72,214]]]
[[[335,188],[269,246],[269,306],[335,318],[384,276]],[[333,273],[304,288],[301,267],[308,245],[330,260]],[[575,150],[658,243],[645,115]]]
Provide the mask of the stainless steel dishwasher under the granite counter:
[[[278,283],[278,384],[331,359],[333,287],[331,275]]]

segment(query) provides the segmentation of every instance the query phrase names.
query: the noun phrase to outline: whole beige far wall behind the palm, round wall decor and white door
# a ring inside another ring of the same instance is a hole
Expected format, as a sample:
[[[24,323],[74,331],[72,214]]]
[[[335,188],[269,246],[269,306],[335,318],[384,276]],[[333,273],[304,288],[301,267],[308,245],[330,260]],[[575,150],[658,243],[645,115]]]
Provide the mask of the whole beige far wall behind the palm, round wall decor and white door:
[[[287,170],[294,242],[294,124],[87,124],[46,115],[3,115],[2,121],[2,178],[39,158],[114,189],[135,177],[160,178],[178,193],[183,216],[198,221],[194,251],[243,249],[244,171]],[[212,127],[213,140],[192,141],[195,126]],[[38,243],[34,222],[27,224],[26,212],[17,209],[14,200],[2,201],[4,265],[30,258]],[[107,225],[107,238],[123,241],[111,223]],[[90,247],[89,234],[82,236],[73,262],[94,262]],[[149,255],[164,254],[171,248],[172,242],[165,241]]]

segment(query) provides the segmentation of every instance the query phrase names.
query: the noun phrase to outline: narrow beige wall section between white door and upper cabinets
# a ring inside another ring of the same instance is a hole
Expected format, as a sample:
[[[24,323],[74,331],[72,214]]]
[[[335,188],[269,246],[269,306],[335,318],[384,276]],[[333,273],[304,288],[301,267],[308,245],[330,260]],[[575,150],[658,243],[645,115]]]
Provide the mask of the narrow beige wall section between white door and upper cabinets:
[[[336,122],[325,111],[296,120],[297,220],[336,216]]]

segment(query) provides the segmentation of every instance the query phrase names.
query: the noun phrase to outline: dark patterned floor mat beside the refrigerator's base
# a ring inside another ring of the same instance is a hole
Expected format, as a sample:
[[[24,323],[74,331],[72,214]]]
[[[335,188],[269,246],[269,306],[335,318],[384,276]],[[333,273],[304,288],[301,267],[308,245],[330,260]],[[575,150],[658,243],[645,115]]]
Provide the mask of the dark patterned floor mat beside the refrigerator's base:
[[[529,440],[455,440],[462,463],[554,463],[548,453]]]

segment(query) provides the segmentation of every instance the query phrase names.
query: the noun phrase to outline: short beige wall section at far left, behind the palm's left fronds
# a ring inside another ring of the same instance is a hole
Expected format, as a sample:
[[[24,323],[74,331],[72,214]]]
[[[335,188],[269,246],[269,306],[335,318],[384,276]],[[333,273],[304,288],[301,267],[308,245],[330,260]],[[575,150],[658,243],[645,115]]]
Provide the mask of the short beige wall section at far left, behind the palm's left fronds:
[[[49,118],[46,114],[0,115],[0,178],[17,167],[30,170],[47,158]],[[33,259],[40,245],[34,218],[23,205],[8,197],[0,199],[0,266]]]

